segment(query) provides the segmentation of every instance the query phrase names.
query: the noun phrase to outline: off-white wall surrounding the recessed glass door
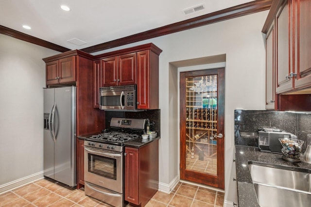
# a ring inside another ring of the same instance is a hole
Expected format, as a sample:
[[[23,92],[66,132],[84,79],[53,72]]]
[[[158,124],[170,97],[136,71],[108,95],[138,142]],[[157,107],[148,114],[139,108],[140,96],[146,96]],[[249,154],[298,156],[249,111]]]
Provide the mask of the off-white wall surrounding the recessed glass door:
[[[259,12],[94,53],[149,42],[163,50],[159,58],[160,185],[170,186],[179,170],[179,122],[176,111],[179,97],[175,82],[178,74],[173,72],[177,67],[170,63],[225,54],[225,199],[232,201],[234,196],[230,195],[230,191],[236,189],[228,187],[234,149],[234,109],[265,108],[265,48],[261,29],[267,15],[268,11]]]

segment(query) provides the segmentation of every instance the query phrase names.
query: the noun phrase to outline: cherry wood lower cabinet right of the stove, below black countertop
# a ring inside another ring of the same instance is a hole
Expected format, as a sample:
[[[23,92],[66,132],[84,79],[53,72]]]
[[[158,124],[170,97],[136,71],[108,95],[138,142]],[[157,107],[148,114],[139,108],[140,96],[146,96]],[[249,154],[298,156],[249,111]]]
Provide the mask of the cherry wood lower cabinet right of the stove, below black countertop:
[[[144,207],[158,190],[158,143],[125,147],[124,199],[129,203]]]

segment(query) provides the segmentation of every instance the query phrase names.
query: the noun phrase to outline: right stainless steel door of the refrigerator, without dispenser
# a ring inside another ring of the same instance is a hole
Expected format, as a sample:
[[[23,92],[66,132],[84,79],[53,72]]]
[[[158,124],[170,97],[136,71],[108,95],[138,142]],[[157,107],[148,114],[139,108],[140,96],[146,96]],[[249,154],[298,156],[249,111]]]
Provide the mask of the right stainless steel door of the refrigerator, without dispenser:
[[[54,179],[75,186],[76,87],[55,88],[55,103]]]

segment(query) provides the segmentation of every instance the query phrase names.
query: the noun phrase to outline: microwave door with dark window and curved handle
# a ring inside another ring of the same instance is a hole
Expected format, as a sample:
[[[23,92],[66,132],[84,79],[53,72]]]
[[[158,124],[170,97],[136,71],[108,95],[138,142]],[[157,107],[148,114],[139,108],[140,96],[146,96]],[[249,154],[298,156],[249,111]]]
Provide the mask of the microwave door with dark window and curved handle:
[[[124,91],[100,91],[100,106],[99,109],[118,109],[123,110],[125,106]]]

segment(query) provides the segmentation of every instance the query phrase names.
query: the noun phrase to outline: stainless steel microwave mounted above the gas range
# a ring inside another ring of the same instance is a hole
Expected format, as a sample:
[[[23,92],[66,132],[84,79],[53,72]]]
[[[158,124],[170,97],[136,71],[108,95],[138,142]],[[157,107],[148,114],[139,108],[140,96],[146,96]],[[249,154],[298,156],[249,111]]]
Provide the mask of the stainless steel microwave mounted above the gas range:
[[[99,88],[101,110],[136,110],[136,85],[109,86]]]

